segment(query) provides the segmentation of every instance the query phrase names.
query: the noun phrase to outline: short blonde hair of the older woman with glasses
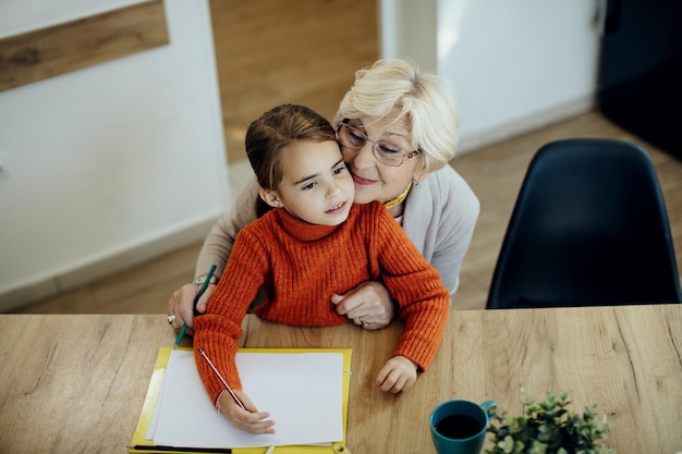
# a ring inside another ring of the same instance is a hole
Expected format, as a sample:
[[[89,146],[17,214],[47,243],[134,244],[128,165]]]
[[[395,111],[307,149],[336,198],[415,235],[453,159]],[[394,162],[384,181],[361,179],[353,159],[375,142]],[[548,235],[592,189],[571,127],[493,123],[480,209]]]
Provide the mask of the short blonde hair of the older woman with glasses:
[[[379,120],[398,111],[411,130],[411,145],[422,150],[427,172],[441,169],[456,152],[459,115],[446,79],[422,72],[405,60],[379,60],[355,73],[332,124],[344,120]]]

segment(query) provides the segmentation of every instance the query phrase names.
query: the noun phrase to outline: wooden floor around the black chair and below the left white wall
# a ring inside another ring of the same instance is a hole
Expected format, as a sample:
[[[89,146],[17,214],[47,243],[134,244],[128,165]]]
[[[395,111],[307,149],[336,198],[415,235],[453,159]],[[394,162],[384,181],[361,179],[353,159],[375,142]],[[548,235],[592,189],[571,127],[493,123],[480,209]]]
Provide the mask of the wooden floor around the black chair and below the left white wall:
[[[478,195],[480,218],[462,267],[456,308],[483,308],[497,255],[525,170],[535,151],[567,137],[611,137],[640,144],[651,156],[668,206],[678,267],[682,270],[682,162],[590,112],[463,155],[452,165]],[[176,287],[193,278],[196,244],[90,285],[35,304],[24,312],[166,314]]]

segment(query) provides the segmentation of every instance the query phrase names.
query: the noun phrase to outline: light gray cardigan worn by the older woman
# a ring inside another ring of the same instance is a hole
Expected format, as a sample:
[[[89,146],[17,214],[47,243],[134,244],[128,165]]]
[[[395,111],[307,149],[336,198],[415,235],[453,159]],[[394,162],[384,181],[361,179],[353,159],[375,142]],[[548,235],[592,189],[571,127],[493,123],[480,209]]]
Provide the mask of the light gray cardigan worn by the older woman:
[[[217,265],[222,275],[238,232],[256,219],[258,184],[253,179],[238,196],[232,210],[210,230],[196,265],[196,274]],[[402,226],[422,255],[440,272],[453,294],[460,268],[468,249],[480,205],[474,192],[450,165],[431,173],[419,187],[413,186],[405,200]]]

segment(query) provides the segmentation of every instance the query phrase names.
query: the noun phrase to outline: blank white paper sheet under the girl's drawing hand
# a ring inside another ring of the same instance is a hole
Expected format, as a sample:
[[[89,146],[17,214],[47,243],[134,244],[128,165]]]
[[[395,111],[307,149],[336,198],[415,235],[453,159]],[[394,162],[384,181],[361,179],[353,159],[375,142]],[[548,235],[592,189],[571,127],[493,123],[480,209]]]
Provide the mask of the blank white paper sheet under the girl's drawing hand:
[[[340,353],[243,353],[244,392],[276,421],[276,434],[232,427],[208,398],[192,351],[173,351],[148,438],[159,445],[253,447],[343,440]],[[156,430],[154,429],[156,428]]]

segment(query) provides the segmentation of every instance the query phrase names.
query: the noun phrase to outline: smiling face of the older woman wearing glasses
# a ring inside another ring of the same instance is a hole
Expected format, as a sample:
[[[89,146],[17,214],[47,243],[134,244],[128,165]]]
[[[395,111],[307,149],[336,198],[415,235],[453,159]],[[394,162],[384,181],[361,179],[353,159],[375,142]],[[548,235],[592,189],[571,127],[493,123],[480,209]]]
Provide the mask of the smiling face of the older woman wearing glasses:
[[[410,127],[402,119],[395,121],[395,113],[379,121],[363,123],[361,120],[349,122],[353,127],[365,133],[369,140],[385,140],[410,152]],[[373,200],[386,203],[398,197],[422,169],[422,157],[405,160],[399,167],[382,164],[374,156],[373,143],[367,140],[361,149],[341,146],[353,182],[355,183],[355,203],[368,204]]]

